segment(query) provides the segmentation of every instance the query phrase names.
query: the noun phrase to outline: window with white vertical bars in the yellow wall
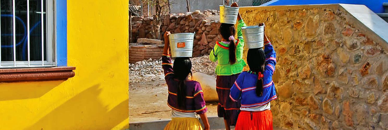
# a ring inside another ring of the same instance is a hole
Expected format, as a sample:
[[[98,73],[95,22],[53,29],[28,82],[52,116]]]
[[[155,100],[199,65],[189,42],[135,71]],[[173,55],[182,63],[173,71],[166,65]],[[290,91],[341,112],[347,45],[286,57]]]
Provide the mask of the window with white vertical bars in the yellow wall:
[[[54,7],[54,0],[0,0],[0,68],[56,65]]]

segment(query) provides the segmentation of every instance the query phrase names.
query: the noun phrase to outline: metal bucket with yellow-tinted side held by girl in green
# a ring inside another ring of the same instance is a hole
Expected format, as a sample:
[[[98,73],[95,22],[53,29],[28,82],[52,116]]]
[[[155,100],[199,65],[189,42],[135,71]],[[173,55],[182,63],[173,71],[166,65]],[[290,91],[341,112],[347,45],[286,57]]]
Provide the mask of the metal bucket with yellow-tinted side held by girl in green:
[[[220,5],[220,22],[227,24],[236,24],[239,7],[230,7]]]

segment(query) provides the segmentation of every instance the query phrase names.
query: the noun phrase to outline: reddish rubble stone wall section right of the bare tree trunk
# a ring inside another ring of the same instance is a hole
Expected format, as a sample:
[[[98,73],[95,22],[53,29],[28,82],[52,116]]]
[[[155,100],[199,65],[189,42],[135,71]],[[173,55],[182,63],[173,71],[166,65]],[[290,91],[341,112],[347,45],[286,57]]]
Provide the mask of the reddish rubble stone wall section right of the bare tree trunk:
[[[221,23],[212,20],[214,15],[219,15],[219,12],[217,10],[206,10],[204,12],[196,10],[186,14],[167,14],[163,21],[162,32],[195,32],[193,56],[209,54],[215,42],[222,39],[218,34]]]

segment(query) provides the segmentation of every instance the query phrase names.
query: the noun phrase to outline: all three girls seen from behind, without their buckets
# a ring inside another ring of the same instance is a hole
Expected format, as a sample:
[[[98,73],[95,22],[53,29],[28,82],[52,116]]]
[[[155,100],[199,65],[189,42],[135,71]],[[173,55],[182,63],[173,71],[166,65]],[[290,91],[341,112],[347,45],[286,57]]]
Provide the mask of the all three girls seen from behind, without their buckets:
[[[231,7],[238,7],[233,3]],[[237,15],[237,38],[234,24],[222,23],[219,32],[222,41],[217,42],[210,53],[210,60],[218,62],[216,88],[219,99],[217,113],[223,117],[225,128],[230,130],[273,130],[270,101],[277,98],[272,75],[275,72],[276,53],[264,34],[264,47],[248,50],[247,62],[242,60],[244,39],[241,27],[246,26],[241,15]],[[172,109],[172,120],[165,130],[202,130],[197,115],[201,116],[204,129],[209,130],[207,108],[199,82],[189,79],[191,61],[178,57],[172,63],[169,57],[169,41],[166,32],[162,67],[168,86],[168,106]],[[173,64],[173,67],[171,66]]]

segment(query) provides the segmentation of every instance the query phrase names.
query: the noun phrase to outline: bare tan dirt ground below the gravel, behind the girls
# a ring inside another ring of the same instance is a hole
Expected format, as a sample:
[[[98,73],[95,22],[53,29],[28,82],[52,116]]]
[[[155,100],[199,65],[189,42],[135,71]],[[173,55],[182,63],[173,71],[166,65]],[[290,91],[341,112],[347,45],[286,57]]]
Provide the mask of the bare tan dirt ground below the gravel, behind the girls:
[[[170,119],[171,108],[167,106],[167,86],[165,80],[130,84],[130,122]],[[208,116],[217,116],[217,103],[206,103]]]

